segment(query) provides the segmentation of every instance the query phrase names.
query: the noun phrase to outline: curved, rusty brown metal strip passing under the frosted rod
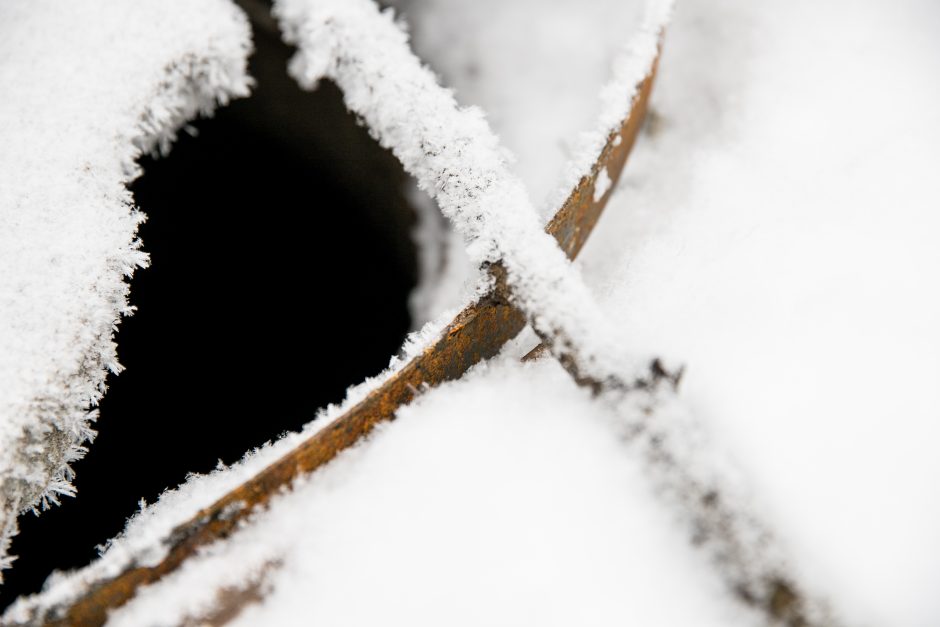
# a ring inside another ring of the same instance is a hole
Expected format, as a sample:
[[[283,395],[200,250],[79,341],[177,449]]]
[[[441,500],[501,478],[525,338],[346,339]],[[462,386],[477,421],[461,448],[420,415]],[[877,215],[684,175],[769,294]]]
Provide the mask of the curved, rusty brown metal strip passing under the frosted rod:
[[[571,258],[587,241],[630,154],[646,115],[655,70],[654,64],[650,75],[640,84],[628,118],[619,132],[608,138],[591,174],[581,179],[546,227]],[[595,201],[594,184],[602,169],[614,184]],[[131,566],[94,585],[71,605],[35,617],[35,622],[103,624],[108,612],[130,600],[140,586],[175,571],[200,547],[228,537],[252,510],[264,506],[295,478],[329,462],[376,424],[394,418],[395,411],[412,400],[415,390],[456,379],[477,362],[495,355],[522,330],[525,317],[505,296],[505,271],[499,266],[491,270],[496,287],[461,311],[433,345],[310,439],[178,526],[166,540],[167,554],[161,562],[154,566]]]

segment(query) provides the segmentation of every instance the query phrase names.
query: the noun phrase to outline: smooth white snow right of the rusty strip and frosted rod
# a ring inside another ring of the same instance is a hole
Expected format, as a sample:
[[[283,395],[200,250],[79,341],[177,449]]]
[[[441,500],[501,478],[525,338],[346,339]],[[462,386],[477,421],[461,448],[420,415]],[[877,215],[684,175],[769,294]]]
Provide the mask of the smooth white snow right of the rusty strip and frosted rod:
[[[860,625],[940,621],[938,18],[683,2],[581,258]]]

